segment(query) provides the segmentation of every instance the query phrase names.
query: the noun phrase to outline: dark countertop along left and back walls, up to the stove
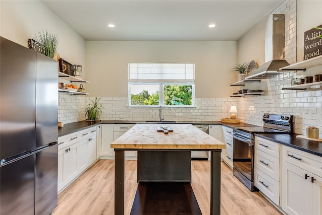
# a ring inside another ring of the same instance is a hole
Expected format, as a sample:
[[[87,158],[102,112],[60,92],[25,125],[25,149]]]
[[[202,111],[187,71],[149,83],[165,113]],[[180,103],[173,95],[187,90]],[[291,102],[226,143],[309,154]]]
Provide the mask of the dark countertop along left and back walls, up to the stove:
[[[62,128],[58,128],[58,136],[63,136],[72,132],[76,132],[85,128],[89,128],[98,124],[104,123],[113,123],[113,124],[136,124],[136,123],[146,123],[145,121],[122,121],[122,120],[102,120],[96,122],[90,121],[79,121],[79,122],[72,122],[64,124]],[[152,122],[149,122],[152,123]],[[158,123],[158,122],[153,122]],[[176,121],[176,122],[167,122],[168,124],[177,123],[177,124],[193,124],[193,125],[209,125],[209,124],[218,124],[218,125],[225,125],[227,127],[236,127],[236,126],[254,126],[251,124],[246,123],[222,123],[220,121],[209,121],[209,122],[198,122],[198,121]]]

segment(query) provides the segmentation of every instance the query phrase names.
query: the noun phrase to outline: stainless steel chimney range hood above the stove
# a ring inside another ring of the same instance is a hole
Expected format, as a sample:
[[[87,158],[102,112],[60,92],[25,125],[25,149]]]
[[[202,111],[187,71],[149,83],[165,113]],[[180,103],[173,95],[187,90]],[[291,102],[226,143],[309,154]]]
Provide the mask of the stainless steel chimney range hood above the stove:
[[[281,67],[288,66],[285,53],[285,18],[284,14],[271,14],[266,21],[265,63],[255,69],[246,79],[269,79],[282,73]]]

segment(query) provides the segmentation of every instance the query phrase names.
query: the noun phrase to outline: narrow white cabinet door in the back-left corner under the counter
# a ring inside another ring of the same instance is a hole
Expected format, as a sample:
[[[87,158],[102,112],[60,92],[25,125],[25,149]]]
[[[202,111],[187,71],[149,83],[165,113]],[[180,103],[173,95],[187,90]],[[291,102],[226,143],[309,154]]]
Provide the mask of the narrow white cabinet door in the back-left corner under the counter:
[[[102,124],[102,156],[113,156],[114,150],[111,149],[113,142],[113,124]]]

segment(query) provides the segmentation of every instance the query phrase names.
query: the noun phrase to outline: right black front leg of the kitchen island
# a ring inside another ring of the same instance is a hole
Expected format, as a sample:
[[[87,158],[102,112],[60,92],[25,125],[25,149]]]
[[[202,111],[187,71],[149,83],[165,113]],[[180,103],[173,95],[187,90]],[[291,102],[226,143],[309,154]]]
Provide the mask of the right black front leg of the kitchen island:
[[[211,151],[210,161],[210,214],[220,214],[220,153],[221,150]]]

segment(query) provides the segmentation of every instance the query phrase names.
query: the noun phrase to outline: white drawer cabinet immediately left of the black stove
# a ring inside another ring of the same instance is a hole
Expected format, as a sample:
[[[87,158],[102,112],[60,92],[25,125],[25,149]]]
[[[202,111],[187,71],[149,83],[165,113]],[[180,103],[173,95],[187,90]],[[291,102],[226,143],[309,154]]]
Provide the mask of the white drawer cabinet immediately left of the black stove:
[[[233,137],[232,128],[221,126],[221,142],[226,144],[226,149],[221,151],[221,159],[232,168],[232,154],[233,154]]]

